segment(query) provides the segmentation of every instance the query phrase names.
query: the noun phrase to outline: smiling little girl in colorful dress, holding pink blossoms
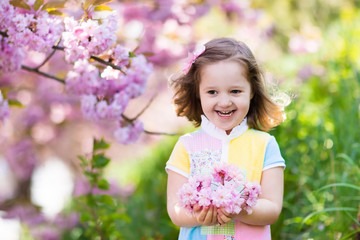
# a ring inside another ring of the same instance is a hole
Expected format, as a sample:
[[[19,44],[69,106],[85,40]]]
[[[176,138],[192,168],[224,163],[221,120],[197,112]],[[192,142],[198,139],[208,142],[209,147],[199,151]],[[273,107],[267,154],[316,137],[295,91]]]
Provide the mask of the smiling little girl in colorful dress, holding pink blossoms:
[[[266,131],[283,121],[283,110],[265,92],[262,74],[249,48],[229,38],[214,39],[195,53],[185,74],[174,79],[179,116],[201,128],[181,136],[169,161],[167,210],[181,227],[181,240],[271,239],[270,224],[282,208],[285,161]],[[190,176],[209,174],[227,162],[261,185],[252,214],[229,214],[223,208],[180,207],[178,190]]]

